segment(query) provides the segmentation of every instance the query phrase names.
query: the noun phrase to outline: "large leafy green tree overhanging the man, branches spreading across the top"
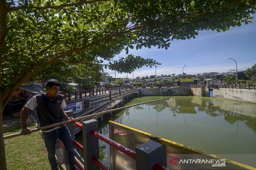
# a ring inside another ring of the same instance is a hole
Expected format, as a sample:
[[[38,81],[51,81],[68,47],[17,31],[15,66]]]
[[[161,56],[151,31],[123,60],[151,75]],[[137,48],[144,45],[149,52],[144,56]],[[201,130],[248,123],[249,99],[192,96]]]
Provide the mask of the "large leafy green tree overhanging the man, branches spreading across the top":
[[[35,74],[49,68],[64,73],[65,64],[78,63],[128,73],[142,66],[156,66],[156,61],[132,54],[118,61],[112,59],[123,49],[127,54],[134,47],[168,49],[171,40],[195,38],[199,30],[220,32],[247,24],[250,14],[255,13],[255,3],[0,0],[0,135],[3,108],[14,91]],[[5,170],[3,138],[0,152],[0,169]]]

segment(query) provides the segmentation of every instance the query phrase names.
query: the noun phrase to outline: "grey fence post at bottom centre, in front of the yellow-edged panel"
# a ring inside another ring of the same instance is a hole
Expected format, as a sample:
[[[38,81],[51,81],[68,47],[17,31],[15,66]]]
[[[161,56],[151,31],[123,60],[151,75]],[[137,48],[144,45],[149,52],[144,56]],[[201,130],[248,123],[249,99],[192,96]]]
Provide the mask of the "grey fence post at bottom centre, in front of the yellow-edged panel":
[[[136,147],[136,169],[152,170],[155,163],[163,165],[163,145],[148,141]]]

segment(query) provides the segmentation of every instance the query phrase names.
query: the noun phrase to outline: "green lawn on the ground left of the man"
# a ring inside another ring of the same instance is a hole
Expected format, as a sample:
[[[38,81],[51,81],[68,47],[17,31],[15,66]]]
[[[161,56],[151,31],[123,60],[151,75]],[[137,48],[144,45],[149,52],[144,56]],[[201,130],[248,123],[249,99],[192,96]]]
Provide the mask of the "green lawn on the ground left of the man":
[[[30,129],[36,128],[31,120]],[[20,118],[3,116],[4,136],[21,131]],[[40,132],[5,140],[5,155],[8,170],[49,170],[45,143]]]

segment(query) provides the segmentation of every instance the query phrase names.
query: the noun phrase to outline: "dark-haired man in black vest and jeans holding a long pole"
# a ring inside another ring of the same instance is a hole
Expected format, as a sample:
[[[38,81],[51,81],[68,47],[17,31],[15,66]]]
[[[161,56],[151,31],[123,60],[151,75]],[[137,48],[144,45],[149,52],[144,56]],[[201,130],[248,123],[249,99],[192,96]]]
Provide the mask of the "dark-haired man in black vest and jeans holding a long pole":
[[[21,133],[23,135],[31,134],[30,129],[27,127],[27,112],[29,110],[34,110],[35,107],[37,107],[38,119],[41,127],[64,120],[69,120],[69,123],[73,123],[73,118],[69,118],[63,110],[67,105],[64,96],[58,93],[60,85],[61,83],[58,80],[48,80],[45,83],[47,92],[33,96],[21,110]],[[73,140],[67,126],[62,125],[48,128],[43,130],[42,133],[52,170],[58,170],[58,164],[55,159],[55,143],[57,138],[63,142],[68,151],[69,169],[76,169],[74,167],[75,156]]]

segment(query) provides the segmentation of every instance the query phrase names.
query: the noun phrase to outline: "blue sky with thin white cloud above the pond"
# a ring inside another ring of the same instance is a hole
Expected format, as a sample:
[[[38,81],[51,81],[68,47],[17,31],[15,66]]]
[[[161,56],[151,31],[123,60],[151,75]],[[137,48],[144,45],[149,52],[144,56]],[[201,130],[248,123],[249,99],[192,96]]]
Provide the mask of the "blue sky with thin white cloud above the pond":
[[[256,64],[256,14],[253,23],[243,24],[240,27],[231,27],[225,32],[200,31],[196,38],[186,40],[174,39],[168,50],[158,49],[152,46],[151,49],[143,47],[136,50],[129,49],[129,54],[151,58],[162,63],[155,67],[142,67],[128,74],[129,79],[150,75],[168,74],[198,74],[198,73],[226,73],[231,69],[244,71]],[[119,57],[126,57],[123,50]],[[232,58],[236,61],[230,60]],[[126,78],[127,73],[117,73],[105,70],[113,77]],[[235,71],[233,71],[235,72]]]

